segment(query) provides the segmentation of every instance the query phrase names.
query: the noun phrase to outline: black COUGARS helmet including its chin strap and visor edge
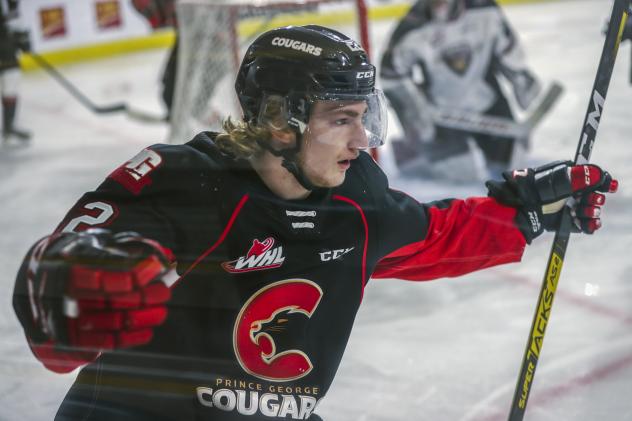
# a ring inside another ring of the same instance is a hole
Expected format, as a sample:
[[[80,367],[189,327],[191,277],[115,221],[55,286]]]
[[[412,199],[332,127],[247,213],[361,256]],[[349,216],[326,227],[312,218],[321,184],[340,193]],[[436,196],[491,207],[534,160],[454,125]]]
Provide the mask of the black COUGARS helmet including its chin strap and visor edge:
[[[296,133],[295,148],[271,152],[283,156],[283,165],[313,190],[298,168],[296,154],[314,104],[326,101],[344,107],[365,103],[361,122],[366,147],[380,146],[386,137],[387,117],[384,96],[375,89],[375,76],[366,52],[346,35],[317,25],[288,26],[268,31],[250,45],[235,90],[246,121],[285,126]],[[271,113],[270,108],[278,112]],[[272,121],[271,115],[277,120],[280,116],[281,121]]]

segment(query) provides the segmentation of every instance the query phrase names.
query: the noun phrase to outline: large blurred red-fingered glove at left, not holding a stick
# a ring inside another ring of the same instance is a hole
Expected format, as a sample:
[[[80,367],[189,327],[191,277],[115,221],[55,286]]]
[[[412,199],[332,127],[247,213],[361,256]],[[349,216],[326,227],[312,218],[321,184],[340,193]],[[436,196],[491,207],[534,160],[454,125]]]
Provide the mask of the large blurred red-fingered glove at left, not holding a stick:
[[[32,347],[98,353],[145,344],[167,317],[172,260],[132,232],[53,234],[27,255],[13,305]]]

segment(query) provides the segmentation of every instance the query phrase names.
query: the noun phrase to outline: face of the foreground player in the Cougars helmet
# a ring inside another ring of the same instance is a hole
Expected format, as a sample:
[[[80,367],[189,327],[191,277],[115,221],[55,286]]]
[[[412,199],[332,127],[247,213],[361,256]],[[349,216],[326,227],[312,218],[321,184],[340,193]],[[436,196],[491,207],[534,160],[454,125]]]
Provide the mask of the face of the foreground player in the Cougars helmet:
[[[363,116],[364,101],[317,101],[307,129],[299,162],[304,174],[316,186],[335,187],[361,149],[369,146]]]

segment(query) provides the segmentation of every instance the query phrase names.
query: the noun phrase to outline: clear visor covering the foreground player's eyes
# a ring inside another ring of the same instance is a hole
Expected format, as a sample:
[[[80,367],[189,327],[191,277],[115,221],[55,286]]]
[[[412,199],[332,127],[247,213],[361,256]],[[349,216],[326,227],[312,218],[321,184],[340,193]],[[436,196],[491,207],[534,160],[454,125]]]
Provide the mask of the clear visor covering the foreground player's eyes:
[[[288,115],[284,101],[271,96],[264,99],[263,104],[259,122],[280,129],[288,121],[280,117]],[[383,145],[386,139],[386,110],[386,99],[379,89],[362,96],[312,97],[309,122],[305,124],[290,117],[289,124],[312,141],[346,144],[357,149],[375,148]]]

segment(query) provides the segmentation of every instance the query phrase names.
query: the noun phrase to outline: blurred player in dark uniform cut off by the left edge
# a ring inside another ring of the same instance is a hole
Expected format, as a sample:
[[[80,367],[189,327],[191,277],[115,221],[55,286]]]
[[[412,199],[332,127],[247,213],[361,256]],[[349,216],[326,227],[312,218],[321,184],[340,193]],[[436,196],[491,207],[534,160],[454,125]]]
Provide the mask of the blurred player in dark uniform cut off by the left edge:
[[[2,96],[2,140],[28,141],[31,134],[16,127],[16,113],[20,87],[18,53],[29,52],[28,31],[20,28],[18,1],[0,0],[0,95]]]

